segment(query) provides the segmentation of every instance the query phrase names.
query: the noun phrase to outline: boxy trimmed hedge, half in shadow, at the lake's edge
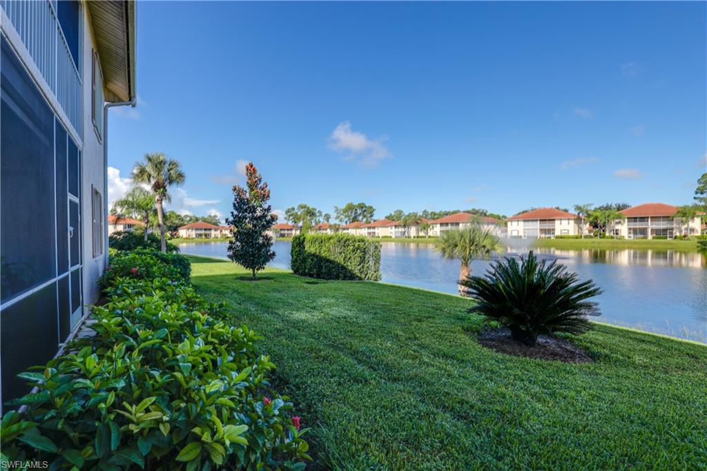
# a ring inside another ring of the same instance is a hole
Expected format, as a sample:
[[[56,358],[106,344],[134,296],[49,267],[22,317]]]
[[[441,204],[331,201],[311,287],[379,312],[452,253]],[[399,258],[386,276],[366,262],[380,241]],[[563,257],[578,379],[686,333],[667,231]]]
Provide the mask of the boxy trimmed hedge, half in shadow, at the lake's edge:
[[[380,242],[351,234],[301,234],[292,239],[292,271],[320,279],[380,280]]]

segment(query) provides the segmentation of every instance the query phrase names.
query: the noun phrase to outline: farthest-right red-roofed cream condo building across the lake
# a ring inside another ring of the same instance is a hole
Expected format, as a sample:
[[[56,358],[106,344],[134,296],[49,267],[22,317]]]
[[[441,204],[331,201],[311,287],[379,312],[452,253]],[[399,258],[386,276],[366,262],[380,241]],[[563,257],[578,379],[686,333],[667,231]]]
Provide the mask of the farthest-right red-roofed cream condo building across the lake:
[[[701,231],[701,214],[683,221],[674,217],[677,207],[665,203],[645,203],[624,209],[626,219],[614,221],[610,232],[627,239],[652,239],[656,236],[697,236]]]

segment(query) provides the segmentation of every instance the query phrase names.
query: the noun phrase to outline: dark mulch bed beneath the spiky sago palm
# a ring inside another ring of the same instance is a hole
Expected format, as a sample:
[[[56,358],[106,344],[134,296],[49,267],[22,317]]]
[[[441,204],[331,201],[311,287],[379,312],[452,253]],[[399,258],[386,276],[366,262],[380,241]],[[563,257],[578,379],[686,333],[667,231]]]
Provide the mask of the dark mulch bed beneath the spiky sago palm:
[[[527,347],[511,337],[510,330],[506,328],[482,330],[479,334],[479,343],[484,347],[508,355],[565,363],[592,363],[594,361],[583,349],[565,339],[539,335],[534,347]]]

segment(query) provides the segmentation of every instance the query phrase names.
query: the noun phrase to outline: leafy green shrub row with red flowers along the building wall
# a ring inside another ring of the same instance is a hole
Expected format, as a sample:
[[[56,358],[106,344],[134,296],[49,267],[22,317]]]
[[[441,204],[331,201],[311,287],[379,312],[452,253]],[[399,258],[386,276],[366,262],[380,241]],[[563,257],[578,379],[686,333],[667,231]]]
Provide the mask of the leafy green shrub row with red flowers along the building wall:
[[[21,373],[37,391],[8,402],[2,461],[52,469],[301,469],[308,460],[288,397],[259,337],[194,291],[176,254],[117,252],[94,307],[95,335]],[[188,261],[187,261],[188,263]],[[136,271],[133,272],[133,268]],[[168,276],[165,276],[168,274]]]

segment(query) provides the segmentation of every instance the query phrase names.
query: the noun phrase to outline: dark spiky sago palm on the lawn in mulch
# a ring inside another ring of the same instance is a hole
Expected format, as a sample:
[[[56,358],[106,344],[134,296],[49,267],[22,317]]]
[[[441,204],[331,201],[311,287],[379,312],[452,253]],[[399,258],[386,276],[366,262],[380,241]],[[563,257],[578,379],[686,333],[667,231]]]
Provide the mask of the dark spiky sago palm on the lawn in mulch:
[[[470,313],[485,316],[510,329],[518,341],[532,346],[539,334],[590,329],[589,315],[599,315],[597,303],[587,301],[602,292],[594,281],[578,281],[557,260],[539,261],[533,252],[506,257],[489,268],[484,277],[467,277],[460,284],[477,303]]]

